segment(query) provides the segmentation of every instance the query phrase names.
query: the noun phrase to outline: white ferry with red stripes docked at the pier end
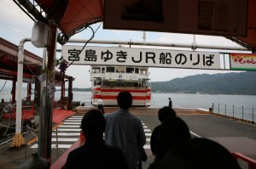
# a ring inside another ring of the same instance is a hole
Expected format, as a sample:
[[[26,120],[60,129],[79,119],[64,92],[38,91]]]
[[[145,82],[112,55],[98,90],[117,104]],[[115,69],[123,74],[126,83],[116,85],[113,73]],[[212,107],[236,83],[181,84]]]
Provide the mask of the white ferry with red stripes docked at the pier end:
[[[91,104],[96,106],[97,99],[101,97],[104,106],[118,106],[118,93],[128,91],[132,95],[132,106],[150,106],[151,82],[148,75],[146,67],[91,65]]]

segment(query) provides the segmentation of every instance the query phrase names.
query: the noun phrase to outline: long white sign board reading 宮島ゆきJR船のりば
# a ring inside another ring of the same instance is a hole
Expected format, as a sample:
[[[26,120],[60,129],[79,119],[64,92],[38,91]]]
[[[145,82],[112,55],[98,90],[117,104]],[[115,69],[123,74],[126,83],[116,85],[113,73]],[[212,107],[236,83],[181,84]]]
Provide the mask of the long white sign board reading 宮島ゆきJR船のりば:
[[[62,46],[62,56],[74,65],[132,65],[191,69],[220,69],[219,53],[152,48]]]

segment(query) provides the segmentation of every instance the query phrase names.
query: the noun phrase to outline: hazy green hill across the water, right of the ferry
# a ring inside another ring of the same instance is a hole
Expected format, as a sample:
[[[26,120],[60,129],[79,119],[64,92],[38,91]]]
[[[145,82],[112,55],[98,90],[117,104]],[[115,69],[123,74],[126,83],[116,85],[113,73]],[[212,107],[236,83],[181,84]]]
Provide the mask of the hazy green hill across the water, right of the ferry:
[[[256,72],[195,75],[152,82],[152,92],[256,95]]]

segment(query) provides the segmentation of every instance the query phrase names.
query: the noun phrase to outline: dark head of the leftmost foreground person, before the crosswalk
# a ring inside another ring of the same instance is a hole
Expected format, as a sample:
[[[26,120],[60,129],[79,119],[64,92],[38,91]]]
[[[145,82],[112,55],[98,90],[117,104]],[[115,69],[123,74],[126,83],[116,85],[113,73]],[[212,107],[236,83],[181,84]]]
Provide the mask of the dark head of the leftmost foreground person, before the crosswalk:
[[[102,139],[106,129],[106,120],[99,110],[89,110],[81,121],[81,128],[88,140]]]

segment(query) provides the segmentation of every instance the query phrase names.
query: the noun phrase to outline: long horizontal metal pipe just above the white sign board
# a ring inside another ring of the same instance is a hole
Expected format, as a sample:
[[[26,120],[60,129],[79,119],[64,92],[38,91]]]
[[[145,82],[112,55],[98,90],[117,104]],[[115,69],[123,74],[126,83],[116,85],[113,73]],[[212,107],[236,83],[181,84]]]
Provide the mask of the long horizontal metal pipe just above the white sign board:
[[[84,39],[69,39],[68,42],[85,43],[88,40]],[[131,42],[131,41],[106,41],[106,40],[91,40],[89,43],[100,44],[116,44],[116,45],[135,45],[135,46],[155,46],[155,47],[173,47],[173,48],[205,48],[205,49],[223,49],[223,50],[238,50],[248,51],[247,48],[229,47],[229,46],[213,46],[199,44],[183,44],[183,43],[166,43],[166,42]]]

